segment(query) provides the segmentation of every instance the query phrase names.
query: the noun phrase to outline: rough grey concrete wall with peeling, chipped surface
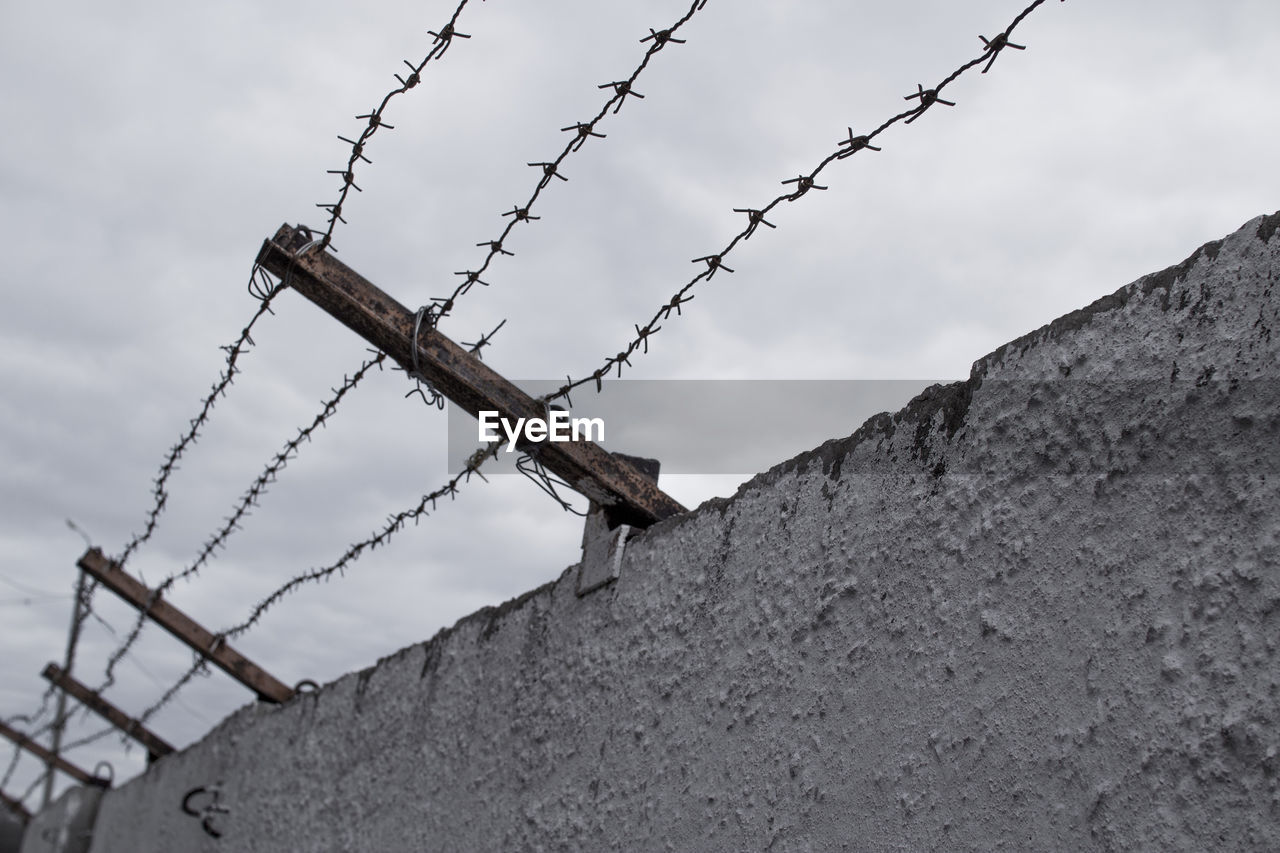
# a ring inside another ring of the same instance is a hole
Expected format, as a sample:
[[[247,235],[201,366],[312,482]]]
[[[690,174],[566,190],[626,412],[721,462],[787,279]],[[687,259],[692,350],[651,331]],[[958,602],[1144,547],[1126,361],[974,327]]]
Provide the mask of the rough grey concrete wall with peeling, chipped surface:
[[[1280,849],[1277,224],[650,528],[611,587],[239,711],[109,792],[93,853]]]

